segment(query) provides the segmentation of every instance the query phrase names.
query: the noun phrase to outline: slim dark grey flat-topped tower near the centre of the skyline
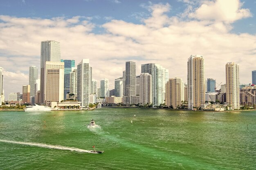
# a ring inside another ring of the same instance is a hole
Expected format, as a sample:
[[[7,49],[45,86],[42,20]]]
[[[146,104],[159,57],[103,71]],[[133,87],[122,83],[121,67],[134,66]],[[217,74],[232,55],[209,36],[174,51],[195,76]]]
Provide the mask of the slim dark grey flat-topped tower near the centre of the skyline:
[[[136,63],[126,62],[125,103],[132,104],[131,96],[136,96]]]

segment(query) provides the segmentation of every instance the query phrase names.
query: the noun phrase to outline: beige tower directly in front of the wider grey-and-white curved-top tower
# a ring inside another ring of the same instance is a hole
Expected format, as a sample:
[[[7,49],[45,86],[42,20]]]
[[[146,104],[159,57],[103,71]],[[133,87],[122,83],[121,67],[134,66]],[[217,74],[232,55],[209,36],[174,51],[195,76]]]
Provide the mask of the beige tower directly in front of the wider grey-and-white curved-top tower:
[[[152,75],[149,73],[141,73],[139,77],[139,103],[152,103]]]

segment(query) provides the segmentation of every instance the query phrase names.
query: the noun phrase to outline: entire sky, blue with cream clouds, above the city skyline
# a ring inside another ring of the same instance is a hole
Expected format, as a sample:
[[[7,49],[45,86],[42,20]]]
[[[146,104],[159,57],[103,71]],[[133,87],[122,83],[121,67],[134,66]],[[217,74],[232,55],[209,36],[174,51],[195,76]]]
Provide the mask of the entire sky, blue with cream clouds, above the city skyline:
[[[0,1],[0,67],[4,93],[22,92],[29,66],[40,70],[40,43],[55,40],[61,59],[89,58],[92,78],[122,76],[125,62],[161,64],[187,82],[187,60],[203,55],[205,78],[225,84],[225,64],[240,66],[240,83],[256,70],[256,0]],[[38,76],[39,78],[39,76]]]

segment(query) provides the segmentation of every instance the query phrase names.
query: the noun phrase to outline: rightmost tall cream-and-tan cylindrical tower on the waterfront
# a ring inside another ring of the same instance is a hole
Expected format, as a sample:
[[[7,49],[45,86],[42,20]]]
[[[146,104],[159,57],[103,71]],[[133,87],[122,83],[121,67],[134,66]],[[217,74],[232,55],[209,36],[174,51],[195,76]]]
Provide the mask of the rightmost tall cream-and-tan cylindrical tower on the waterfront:
[[[239,65],[234,62],[226,64],[227,103],[231,109],[240,109]]]

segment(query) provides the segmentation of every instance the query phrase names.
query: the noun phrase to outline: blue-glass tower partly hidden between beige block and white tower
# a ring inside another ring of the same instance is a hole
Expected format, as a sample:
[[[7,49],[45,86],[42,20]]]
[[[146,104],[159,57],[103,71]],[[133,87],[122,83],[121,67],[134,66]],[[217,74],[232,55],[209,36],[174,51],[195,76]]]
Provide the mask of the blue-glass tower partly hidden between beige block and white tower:
[[[70,93],[70,72],[75,67],[75,60],[61,60],[64,62],[64,100],[67,99],[67,93]]]

